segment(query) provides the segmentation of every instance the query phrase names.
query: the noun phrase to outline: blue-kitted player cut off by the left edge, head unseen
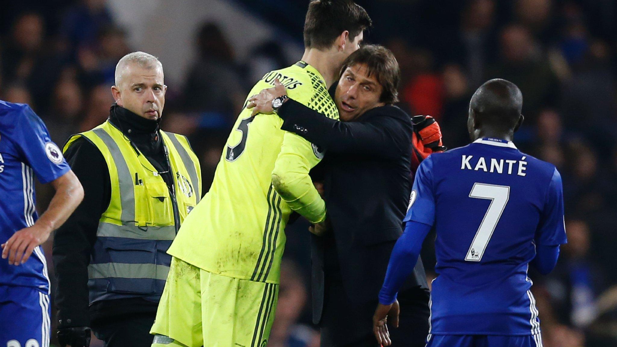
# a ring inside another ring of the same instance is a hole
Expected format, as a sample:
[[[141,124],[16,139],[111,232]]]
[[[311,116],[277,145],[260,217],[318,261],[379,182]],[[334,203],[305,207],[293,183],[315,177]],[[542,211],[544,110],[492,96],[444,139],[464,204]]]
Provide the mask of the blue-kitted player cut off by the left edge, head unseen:
[[[56,190],[35,211],[34,177]],[[48,347],[49,277],[41,243],[83,199],[79,180],[25,104],[0,101],[0,347]]]

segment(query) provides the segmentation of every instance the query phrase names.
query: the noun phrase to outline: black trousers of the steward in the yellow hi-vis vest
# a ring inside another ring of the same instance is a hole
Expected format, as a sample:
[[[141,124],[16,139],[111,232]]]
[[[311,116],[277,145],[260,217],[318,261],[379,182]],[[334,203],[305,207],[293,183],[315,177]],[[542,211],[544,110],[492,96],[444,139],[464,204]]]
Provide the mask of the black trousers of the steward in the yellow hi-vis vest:
[[[92,331],[105,342],[105,347],[151,347],[154,335],[150,335],[150,328],[155,316],[155,313],[139,313],[97,320],[92,324]]]

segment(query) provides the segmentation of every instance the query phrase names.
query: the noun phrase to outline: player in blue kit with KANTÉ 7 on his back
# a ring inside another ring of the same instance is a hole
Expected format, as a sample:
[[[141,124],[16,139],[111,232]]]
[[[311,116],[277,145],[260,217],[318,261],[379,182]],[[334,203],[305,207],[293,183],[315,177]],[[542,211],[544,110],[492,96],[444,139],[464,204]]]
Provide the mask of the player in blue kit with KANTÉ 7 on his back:
[[[405,232],[391,254],[373,317],[398,317],[396,293],[412,272],[422,241],[436,228],[437,278],[431,293],[428,347],[540,347],[540,320],[529,263],[548,274],[566,243],[561,177],[555,166],[511,142],[523,122],[513,83],[490,80],[473,95],[473,143],[434,154],[416,172]]]

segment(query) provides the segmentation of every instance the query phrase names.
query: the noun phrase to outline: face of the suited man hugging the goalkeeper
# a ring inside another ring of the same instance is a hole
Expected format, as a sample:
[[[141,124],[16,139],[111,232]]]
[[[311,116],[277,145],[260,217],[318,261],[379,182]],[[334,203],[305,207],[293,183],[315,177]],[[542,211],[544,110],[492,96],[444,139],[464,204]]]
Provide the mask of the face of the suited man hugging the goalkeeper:
[[[382,92],[383,86],[379,84],[375,73],[369,75],[366,64],[347,67],[334,94],[341,120],[350,122],[370,109],[384,106],[379,101]]]

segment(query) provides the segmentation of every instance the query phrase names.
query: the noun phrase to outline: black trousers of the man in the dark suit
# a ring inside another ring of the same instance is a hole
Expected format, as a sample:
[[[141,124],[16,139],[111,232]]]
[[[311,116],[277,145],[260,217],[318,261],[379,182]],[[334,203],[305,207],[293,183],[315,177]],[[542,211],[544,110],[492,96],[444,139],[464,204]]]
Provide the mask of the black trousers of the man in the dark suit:
[[[428,335],[429,292],[421,288],[402,291],[399,327],[388,325],[392,347],[424,347]],[[373,314],[377,299],[352,303],[342,282],[330,280],[324,292],[321,317],[321,347],[379,347],[373,335]]]

